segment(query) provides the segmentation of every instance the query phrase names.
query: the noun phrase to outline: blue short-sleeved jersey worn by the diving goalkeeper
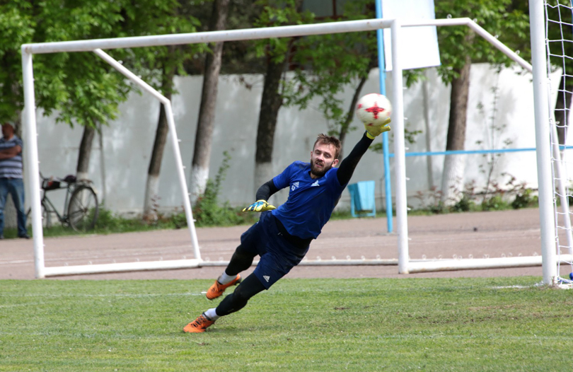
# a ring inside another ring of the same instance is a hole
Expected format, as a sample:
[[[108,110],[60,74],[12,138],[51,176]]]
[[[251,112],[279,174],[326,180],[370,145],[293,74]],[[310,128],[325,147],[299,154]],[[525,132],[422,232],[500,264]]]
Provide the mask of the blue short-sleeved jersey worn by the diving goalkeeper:
[[[311,178],[311,164],[295,161],[272,179],[279,190],[289,187],[287,202],[272,211],[289,234],[302,239],[316,238],[330,219],[342,190],[337,168],[321,178]]]

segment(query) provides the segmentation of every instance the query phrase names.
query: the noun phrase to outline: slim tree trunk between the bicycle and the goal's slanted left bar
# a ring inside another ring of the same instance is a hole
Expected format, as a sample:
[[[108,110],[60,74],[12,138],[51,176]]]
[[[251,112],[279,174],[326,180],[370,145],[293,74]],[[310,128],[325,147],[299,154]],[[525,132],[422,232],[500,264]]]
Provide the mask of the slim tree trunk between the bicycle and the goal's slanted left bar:
[[[173,45],[168,46],[170,52],[175,50]],[[167,69],[167,71],[165,71]],[[173,91],[173,77],[175,68],[163,68],[163,81],[161,82],[161,91],[163,95],[171,100]],[[151,151],[151,160],[149,161],[149,170],[147,171],[147,182],[145,187],[144,199],[144,221],[157,220],[157,205],[159,200],[159,173],[161,172],[161,161],[163,160],[163,150],[167,140],[169,128],[167,126],[167,116],[165,107],[161,105],[159,109],[159,120],[155,134],[154,148]]]

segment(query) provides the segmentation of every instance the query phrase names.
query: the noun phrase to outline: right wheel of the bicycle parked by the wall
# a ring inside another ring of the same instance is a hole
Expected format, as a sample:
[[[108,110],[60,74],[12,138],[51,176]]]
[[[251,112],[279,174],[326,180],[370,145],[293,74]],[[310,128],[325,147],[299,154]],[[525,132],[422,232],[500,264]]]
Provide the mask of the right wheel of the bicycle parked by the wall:
[[[98,219],[98,197],[93,188],[79,185],[71,194],[68,206],[68,221],[79,233],[90,231]]]

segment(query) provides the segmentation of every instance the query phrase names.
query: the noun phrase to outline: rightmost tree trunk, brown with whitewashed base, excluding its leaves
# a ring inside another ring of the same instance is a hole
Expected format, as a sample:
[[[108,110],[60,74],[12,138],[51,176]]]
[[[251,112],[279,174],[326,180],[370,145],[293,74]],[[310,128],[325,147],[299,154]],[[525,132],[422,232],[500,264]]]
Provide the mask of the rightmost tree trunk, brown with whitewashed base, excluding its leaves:
[[[451,82],[450,117],[446,151],[463,150],[465,145],[465,124],[468,119],[468,93],[470,91],[471,59],[465,58],[465,65],[456,71],[459,77]],[[447,155],[444,159],[444,173],[441,182],[441,202],[453,205],[461,199],[465,155]]]

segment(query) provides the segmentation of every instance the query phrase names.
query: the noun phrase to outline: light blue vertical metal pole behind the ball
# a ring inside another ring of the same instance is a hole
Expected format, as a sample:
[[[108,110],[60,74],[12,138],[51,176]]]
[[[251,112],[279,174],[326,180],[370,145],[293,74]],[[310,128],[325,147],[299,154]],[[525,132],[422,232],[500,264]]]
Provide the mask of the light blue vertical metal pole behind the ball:
[[[376,18],[382,18],[382,0],[376,0]],[[381,28],[376,30],[378,40],[378,79],[380,81],[380,94],[386,95],[386,62],[384,61],[384,34]],[[384,161],[384,192],[386,194],[386,225],[388,233],[393,231],[392,214],[392,184],[390,182],[390,154],[388,151],[388,132],[382,134],[382,152]]]

